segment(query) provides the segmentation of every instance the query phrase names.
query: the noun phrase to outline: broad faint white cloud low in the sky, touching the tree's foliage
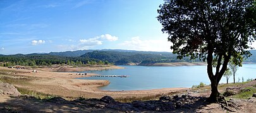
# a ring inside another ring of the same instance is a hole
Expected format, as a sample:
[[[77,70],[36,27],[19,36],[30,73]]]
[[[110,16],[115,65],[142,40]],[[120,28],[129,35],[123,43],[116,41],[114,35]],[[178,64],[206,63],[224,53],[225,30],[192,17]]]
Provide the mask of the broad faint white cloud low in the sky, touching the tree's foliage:
[[[138,51],[171,51],[171,43],[167,40],[140,40],[139,36],[119,44],[121,49]]]

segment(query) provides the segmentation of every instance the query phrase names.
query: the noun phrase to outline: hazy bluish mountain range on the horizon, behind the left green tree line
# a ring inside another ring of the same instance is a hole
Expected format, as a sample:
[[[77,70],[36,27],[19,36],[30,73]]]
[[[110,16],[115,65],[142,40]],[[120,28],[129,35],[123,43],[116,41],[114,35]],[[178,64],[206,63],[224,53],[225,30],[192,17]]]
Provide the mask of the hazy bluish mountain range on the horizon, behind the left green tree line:
[[[245,62],[256,63],[256,50],[251,50],[252,56],[250,56]],[[128,65],[134,63],[137,65],[147,65],[150,63],[168,63],[168,62],[192,62],[189,57],[185,57],[182,60],[176,58],[171,52],[157,52],[157,51],[135,51],[135,50],[78,50],[78,51],[63,51],[63,52],[51,52],[51,53],[32,53],[27,55],[0,55],[3,61],[8,61],[8,57],[23,58],[26,60],[29,58],[43,59],[46,61],[55,61],[61,63],[68,60],[76,62],[82,61],[86,63],[88,61],[100,60],[105,62],[114,63],[115,65]],[[6,58],[7,57],[7,58]],[[1,60],[1,59],[0,59]],[[1,62],[1,61],[0,61]],[[193,62],[200,62],[200,60],[193,60]]]

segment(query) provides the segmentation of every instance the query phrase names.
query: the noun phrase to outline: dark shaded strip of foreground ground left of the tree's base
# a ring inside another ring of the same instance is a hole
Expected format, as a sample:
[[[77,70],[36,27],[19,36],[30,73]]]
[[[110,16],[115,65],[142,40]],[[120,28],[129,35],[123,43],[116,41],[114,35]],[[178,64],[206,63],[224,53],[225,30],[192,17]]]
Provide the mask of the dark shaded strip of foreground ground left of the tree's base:
[[[111,97],[110,97],[111,98]],[[35,97],[12,97],[0,103],[0,112],[198,112],[209,103],[206,97],[160,97],[159,100],[122,103],[102,99],[64,100],[61,97],[40,100]]]

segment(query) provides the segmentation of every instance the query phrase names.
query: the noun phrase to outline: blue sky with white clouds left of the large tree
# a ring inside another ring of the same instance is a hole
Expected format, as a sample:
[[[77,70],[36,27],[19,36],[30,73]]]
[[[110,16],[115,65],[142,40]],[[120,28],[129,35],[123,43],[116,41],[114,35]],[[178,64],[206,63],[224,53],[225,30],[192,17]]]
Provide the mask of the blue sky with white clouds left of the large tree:
[[[1,0],[0,54],[88,49],[171,51],[161,0]]]

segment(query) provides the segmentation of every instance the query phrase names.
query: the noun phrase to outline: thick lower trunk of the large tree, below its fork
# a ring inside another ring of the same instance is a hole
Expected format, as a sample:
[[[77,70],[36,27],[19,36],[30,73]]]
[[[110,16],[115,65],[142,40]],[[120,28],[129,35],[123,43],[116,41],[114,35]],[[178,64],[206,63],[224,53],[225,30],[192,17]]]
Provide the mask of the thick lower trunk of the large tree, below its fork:
[[[212,89],[212,92],[210,94],[210,97],[207,99],[210,103],[218,103],[219,102],[219,91],[218,91],[218,83],[215,78],[210,80],[210,87]]]

